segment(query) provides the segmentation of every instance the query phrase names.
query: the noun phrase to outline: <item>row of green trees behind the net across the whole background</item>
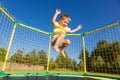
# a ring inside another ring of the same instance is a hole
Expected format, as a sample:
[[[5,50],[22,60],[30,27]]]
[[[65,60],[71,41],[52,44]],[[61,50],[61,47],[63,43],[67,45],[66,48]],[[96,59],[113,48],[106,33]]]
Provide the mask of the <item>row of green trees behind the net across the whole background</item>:
[[[7,50],[0,48],[0,62],[4,62]],[[84,71],[84,57],[83,49],[81,49],[78,56],[79,62],[70,58],[65,52],[66,58],[59,54],[55,59],[51,58],[49,62],[49,70],[72,70]],[[120,74],[120,42],[114,41],[108,43],[106,40],[100,40],[96,47],[89,52],[85,48],[86,69],[88,72],[99,73],[114,73]],[[17,50],[9,59],[8,62],[19,63],[26,65],[40,65],[47,67],[47,53],[45,50],[36,51],[33,49],[31,52],[24,53],[23,50]]]

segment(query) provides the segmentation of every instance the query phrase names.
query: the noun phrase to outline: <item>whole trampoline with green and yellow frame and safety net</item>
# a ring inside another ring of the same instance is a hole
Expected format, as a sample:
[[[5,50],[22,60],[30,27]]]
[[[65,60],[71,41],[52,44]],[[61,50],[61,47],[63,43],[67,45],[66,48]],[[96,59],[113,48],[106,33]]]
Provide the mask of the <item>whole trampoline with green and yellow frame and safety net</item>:
[[[0,6],[0,80],[120,80],[120,20],[67,34],[63,58],[51,32],[23,24]],[[80,57],[80,58],[78,58]]]

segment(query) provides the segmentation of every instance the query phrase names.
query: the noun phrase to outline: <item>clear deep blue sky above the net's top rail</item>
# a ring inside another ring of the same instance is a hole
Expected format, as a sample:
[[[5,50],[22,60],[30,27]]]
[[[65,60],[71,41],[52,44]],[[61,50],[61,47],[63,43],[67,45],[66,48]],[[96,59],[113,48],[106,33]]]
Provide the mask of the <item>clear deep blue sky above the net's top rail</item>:
[[[20,22],[52,32],[51,19],[56,9],[68,14],[71,29],[82,24],[76,33],[85,33],[106,26],[120,18],[120,0],[0,0]],[[59,21],[59,16],[57,18]]]

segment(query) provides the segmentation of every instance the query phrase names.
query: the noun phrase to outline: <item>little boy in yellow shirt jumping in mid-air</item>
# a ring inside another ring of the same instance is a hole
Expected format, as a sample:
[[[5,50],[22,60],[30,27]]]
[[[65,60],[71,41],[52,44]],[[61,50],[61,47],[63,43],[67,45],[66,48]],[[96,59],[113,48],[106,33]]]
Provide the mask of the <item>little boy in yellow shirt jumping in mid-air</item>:
[[[64,51],[65,48],[70,44],[70,40],[64,39],[66,32],[74,33],[82,28],[82,25],[78,25],[77,28],[71,30],[68,27],[68,23],[71,21],[70,17],[66,14],[62,14],[60,16],[59,23],[56,21],[57,16],[61,13],[60,9],[56,10],[52,18],[52,24],[54,26],[53,36],[51,40],[51,45],[53,49],[59,53],[61,53],[64,57],[66,57]]]

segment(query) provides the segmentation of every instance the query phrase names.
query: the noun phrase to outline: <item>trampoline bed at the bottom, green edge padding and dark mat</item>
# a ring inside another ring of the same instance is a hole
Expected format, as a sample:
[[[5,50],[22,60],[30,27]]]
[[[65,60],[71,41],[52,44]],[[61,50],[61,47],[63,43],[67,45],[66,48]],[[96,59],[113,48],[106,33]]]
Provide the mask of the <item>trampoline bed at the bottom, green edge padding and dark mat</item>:
[[[0,80],[119,80],[119,78],[87,74],[16,73],[6,74],[0,77]]]

